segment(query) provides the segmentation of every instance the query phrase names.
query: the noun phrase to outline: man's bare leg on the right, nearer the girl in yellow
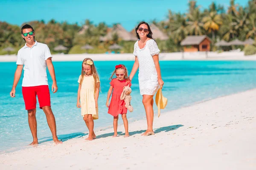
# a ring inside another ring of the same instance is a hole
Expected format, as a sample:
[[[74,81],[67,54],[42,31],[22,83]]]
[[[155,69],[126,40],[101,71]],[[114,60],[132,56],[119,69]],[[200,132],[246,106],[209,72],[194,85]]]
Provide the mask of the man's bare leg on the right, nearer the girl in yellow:
[[[55,144],[59,144],[59,143],[62,143],[61,141],[58,140],[58,137],[57,137],[57,133],[56,133],[56,122],[55,122],[55,117],[52,113],[52,108],[50,106],[44,106],[43,107],[43,111],[45,113],[45,116],[46,116],[46,119],[47,119],[47,123],[48,123],[48,126],[52,132],[52,139],[53,139],[53,142]]]

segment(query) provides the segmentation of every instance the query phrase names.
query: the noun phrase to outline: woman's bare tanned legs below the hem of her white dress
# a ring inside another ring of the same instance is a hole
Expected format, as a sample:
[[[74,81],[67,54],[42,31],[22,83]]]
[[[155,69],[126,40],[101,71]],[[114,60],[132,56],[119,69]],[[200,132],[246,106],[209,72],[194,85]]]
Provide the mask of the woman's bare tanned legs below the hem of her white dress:
[[[143,133],[142,135],[148,136],[148,135],[153,135],[153,119],[154,119],[154,111],[153,111],[153,95],[143,95],[142,99],[145,112],[146,112],[146,118],[147,118],[147,124],[148,124],[148,129]]]

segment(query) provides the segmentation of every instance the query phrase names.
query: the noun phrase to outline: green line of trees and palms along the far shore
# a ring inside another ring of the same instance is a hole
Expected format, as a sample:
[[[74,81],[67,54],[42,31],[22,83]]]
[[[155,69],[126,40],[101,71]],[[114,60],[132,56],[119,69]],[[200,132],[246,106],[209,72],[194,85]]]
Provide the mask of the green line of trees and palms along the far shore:
[[[218,40],[231,41],[239,39],[244,41],[248,38],[256,40],[256,0],[248,0],[246,6],[239,6],[235,0],[230,0],[227,8],[212,2],[208,8],[202,8],[196,0],[190,0],[186,13],[175,13],[168,11],[167,20],[152,20],[161,31],[169,36],[169,40],[157,40],[161,51],[176,52],[181,50],[180,42],[188,35],[207,35],[212,40],[211,50],[215,51],[214,43]],[[124,53],[133,52],[134,42],[123,41],[118,35],[113,35],[113,40],[101,41],[100,37],[108,32],[108,26],[102,22],[94,25],[90,20],[85,20],[83,26],[69,24],[67,22],[56,22],[44,20],[29,22],[35,29],[35,39],[38,42],[46,43],[52,53],[54,47],[64,45],[67,51],[64,53],[104,53],[109,45],[117,43],[123,48]],[[137,23],[134,23],[136,25]],[[112,27],[115,27],[113,24]],[[79,31],[86,26],[81,34]],[[6,54],[3,49],[12,47],[15,50],[10,53],[17,53],[17,50],[24,45],[20,37],[20,26],[0,22],[0,54]],[[153,32],[154,36],[154,32]],[[93,49],[83,50],[81,46],[89,44]]]

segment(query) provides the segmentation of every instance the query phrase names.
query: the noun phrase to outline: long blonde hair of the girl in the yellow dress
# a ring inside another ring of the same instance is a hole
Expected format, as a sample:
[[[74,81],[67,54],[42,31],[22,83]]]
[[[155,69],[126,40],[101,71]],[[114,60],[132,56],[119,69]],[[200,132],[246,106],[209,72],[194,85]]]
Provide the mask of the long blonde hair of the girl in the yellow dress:
[[[87,61],[90,61],[92,62],[92,64],[88,64]],[[84,74],[85,74],[85,71],[83,69],[83,64],[84,65],[90,65],[91,66],[91,71],[92,71],[92,74],[93,74],[93,79],[94,79],[94,94],[96,93],[96,89],[99,88],[99,91],[100,91],[100,85],[98,84],[98,81],[99,81],[99,74],[97,73],[97,70],[96,70],[96,67],[94,65],[94,62],[92,59],[90,58],[85,58],[82,62],[82,70],[81,70],[81,79],[80,79],[80,84],[82,84],[83,80],[84,80]]]

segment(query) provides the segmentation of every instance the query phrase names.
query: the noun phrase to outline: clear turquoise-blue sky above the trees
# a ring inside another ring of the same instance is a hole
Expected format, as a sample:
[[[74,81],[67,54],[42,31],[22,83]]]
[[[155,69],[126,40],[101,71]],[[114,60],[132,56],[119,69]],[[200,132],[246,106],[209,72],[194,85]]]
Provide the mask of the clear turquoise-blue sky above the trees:
[[[226,8],[230,0],[214,0]],[[212,0],[197,0],[206,8]],[[245,6],[247,0],[236,0]],[[20,26],[32,20],[55,19],[58,22],[84,23],[85,19],[94,24],[105,22],[108,25],[121,23],[131,31],[141,20],[150,22],[166,20],[168,9],[186,12],[188,0],[1,0],[0,21]]]

